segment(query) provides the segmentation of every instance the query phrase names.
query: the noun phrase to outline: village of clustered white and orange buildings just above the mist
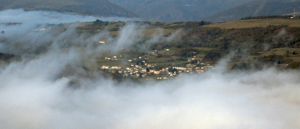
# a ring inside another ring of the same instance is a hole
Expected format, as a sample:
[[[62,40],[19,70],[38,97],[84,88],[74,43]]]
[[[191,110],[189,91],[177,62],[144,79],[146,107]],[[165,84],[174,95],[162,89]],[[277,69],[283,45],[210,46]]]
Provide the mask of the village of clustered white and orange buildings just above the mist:
[[[112,56],[112,57],[105,57],[106,60],[109,61],[117,61],[120,60],[122,55],[119,56]],[[194,64],[190,62],[196,60],[196,58],[187,58],[188,64],[182,65],[172,65],[169,67],[159,67],[157,64],[147,64],[147,60],[149,58],[133,58],[127,59],[130,65],[126,67],[122,66],[108,66],[102,65],[99,69],[104,70],[109,73],[117,73],[122,76],[131,76],[136,78],[145,78],[145,79],[173,79],[176,76],[182,76],[182,74],[195,74],[195,73],[202,73],[210,69],[214,69],[213,65],[200,63],[197,61]],[[140,61],[140,63],[135,63]],[[135,63],[135,64],[132,64]],[[198,65],[197,65],[198,64]]]

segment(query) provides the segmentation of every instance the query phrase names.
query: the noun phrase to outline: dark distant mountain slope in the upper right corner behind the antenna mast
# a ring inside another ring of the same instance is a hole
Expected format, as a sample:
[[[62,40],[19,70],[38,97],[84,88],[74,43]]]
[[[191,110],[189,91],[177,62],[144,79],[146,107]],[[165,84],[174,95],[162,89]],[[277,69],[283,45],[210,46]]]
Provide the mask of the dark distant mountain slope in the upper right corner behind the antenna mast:
[[[204,20],[222,22],[249,16],[285,15],[300,11],[300,0],[257,0],[208,16]]]

